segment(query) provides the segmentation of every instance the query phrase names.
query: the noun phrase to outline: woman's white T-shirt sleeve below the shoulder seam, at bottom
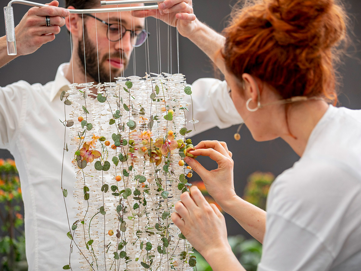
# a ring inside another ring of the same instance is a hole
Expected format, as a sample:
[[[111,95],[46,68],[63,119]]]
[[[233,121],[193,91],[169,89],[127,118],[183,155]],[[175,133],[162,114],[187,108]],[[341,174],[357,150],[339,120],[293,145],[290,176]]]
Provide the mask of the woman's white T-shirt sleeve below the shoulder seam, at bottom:
[[[257,271],[325,271],[331,252],[319,238],[275,214],[267,214],[266,235]]]

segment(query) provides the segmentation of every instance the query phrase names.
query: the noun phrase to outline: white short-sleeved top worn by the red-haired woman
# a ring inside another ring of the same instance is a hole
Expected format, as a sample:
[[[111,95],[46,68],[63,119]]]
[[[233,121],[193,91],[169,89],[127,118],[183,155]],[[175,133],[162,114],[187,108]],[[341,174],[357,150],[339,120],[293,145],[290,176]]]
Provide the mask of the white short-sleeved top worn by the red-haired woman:
[[[361,270],[361,110],[330,106],[271,185],[257,270]]]

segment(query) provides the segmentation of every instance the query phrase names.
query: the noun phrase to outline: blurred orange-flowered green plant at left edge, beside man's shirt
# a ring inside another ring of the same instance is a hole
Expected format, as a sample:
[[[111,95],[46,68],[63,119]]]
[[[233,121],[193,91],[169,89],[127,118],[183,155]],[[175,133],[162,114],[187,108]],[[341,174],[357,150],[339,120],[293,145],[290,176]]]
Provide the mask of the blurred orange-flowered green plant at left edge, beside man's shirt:
[[[27,270],[25,236],[20,231],[24,223],[20,214],[23,205],[20,182],[15,162],[11,159],[0,159],[0,203],[4,206],[0,209],[1,230],[6,234],[0,237],[1,269]]]

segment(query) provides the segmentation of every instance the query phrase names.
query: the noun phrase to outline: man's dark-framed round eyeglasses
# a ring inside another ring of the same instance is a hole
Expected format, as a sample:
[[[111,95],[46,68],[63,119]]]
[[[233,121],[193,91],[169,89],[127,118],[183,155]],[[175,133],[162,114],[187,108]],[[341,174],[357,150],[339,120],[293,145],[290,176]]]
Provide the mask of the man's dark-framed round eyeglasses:
[[[108,26],[108,31],[106,33],[106,37],[111,41],[111,42],[117,42],[118,40],[120,40],[127,31],[130,32],[130,36],[131,36],[131,44],[133,47],[139,47],[142,46],[145,42],[145,40],[147,40],[148,35],[150,35],[151,33],[149,33],[148,31],[146,31],[145,29],[138,29],[138,30],[128,30],[126,29],[124,26],[118,24],[118,23],[107,23],[99,18],[96,18],[93,15],[90,14],[84,14],[90,17],[95,18],[96,20],[104,23],[105,25]]]

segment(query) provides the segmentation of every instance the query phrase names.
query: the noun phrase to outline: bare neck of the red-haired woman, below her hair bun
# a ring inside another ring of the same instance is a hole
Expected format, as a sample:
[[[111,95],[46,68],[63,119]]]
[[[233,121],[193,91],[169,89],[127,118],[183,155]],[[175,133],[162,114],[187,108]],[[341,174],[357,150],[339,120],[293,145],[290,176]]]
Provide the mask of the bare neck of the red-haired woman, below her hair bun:
[[[303,155],[313,129],[328,108],[329,105],[324,100],[308,100],[293,104],[289,108],[287,113],[289,130],[286,127],[287,132],[281,135],[281,138],[299,156]]]

